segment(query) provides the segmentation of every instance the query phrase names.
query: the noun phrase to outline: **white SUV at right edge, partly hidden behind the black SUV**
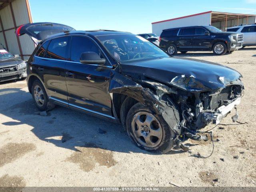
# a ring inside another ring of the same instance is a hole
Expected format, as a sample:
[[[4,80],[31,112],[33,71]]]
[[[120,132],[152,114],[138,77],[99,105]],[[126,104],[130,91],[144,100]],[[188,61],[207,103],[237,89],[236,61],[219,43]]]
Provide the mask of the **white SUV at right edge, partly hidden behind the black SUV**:
[[[256,46],[256,24],[231,27],[231,28],[228,28],[227,31],[243,33],[244,34],[243,47]]]

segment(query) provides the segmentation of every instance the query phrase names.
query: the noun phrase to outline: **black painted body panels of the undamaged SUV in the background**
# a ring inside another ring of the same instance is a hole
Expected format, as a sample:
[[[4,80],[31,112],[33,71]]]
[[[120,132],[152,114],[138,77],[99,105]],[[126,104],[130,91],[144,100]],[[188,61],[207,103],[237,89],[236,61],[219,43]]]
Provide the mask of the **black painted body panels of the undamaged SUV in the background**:
[[[168,48],[168,45],[175,44],[179,51],[211,51],[213,45],[216,42],[224,42],[227,46],[228,51],[236,50],[236,47],[231,47],[232,44],[240,44],[237,42],[231,42],[228,38],[229,35],[232,34],[240,34],[236,32],[211,32],[204,26],[191,26],[204,28],[209,34],[205,35],[188,35],[188,36],[180,36],[179,30],[175,36],[169,36],[168,30],[182,29],[182,28],[172,28],[163,30],[160,35],[160,44],[159,47],[163,50]],[[190,28],[190,27],[184,27]],[[242,46],[242,45],[241,45]]]

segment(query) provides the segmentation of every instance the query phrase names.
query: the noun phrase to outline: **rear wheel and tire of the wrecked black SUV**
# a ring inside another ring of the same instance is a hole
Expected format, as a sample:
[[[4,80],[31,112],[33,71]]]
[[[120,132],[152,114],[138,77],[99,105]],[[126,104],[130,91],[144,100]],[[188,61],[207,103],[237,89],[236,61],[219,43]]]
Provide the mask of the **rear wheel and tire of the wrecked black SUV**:
[[[54,104],[49,102],[44,86],[39,80],[33,82],[31,90],[32,98],[40,111],[49,111],[55,107]]]

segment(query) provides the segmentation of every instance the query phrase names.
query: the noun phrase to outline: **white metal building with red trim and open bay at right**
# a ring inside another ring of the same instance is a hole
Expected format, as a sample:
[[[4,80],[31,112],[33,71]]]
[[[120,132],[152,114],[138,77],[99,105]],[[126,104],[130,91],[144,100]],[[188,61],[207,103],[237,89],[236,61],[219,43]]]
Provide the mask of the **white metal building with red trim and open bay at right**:
[[[160,36],[162,30],[185,26],[212,25],[223,31],[232,26],[254,24],[256,15],[208,11],[152,23],[152,32]]]

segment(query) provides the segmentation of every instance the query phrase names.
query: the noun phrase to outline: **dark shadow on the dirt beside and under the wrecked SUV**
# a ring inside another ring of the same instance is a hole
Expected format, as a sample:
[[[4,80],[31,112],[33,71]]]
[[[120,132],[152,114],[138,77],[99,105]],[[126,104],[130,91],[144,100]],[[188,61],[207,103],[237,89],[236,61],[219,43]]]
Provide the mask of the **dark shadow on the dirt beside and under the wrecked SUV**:
[[[124,153],[152,154],[132,144],[126,132],[122,130],[121,124],[108,122],[60,106],[56,106],[48,112],[47,116],[40,116],[35,114],[38,109],[32,100],[31,94],[19,88],[0,90],[0,99],[11,103],[11,100],[18,99],[22,94],[25,94],[24,102],[10,104],[5,106],[4,110],[1,110],[4,116],[13,119],[7,122],[2,120],[2,125],[10,126],[10,129],[20,129],[23,124],[26,124],[32,127],[31,131],[40,140],[74,151],[79,151],[77,148],[86,146],[86,143],[93,143],[94,145],[87,145],[86,147]],[[99,129],[106,131],[106,133],[100,134]],[[182,152],[182,150],[173,150],[168,154]]]

